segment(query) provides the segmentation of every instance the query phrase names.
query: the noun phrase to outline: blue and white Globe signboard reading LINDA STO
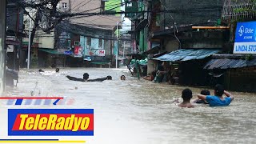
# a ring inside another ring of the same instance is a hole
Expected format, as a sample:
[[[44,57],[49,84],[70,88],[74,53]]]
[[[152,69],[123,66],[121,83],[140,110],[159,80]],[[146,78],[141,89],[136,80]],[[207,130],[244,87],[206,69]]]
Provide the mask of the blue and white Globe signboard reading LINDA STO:
[[[256,54],[256,22],[238,22],[234,54]]]

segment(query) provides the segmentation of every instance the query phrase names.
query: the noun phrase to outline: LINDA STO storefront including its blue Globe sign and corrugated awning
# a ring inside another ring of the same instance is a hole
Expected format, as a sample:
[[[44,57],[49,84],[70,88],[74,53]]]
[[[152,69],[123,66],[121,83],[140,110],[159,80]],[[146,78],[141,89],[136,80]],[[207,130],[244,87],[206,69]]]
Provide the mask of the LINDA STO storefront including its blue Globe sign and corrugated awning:
[[[256,22],[238,22],[233,54],[214,54],[204,69],[228,90],[256,91]]]

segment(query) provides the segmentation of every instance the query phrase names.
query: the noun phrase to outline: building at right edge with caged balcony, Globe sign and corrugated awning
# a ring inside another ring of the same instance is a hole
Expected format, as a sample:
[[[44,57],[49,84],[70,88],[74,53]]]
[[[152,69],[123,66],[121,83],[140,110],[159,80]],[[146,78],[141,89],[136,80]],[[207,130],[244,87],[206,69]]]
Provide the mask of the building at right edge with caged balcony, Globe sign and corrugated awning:
[[[254,11],[255,2],[253,1],[230,1],[225,0],[222,11],[222,22],[230,26],[230,34],[227,36],[228,42],[223,47],[225,53],[214,54],[210,62],[204,67],[206,70],[222,74],[214,81],[224,83],[229,90],[255,92],[256,91],[256,56],[255,50],[243,53],[235,50],[236,38],[240,37],[239,30],[242,27],[250,27],[255,30],[256,14]],[[239,23],[240,26],[239,26]],[[242,26],[241,26],[242,25]],[[243,32],[243,29],[241,29]],[[250,35],[251,45],[255,45],[254,34]],[[243,37],[243,36],[242,36]],[[239,43],[239,42],[238,42]],[[247,43],[245,42],[245,45]]]

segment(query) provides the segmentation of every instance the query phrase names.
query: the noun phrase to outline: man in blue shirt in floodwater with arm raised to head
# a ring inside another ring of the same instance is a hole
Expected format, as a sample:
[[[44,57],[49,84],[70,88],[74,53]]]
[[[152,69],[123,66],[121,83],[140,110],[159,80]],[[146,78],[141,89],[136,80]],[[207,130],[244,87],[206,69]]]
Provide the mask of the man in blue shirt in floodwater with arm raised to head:
[[[226,95],[225,98],[222,96],[223,94]],[[210,106],[228,106],[234,100],[234,96],[219,84],[214,88],[214,96],[198,94],[198,98],[208,102]]]

